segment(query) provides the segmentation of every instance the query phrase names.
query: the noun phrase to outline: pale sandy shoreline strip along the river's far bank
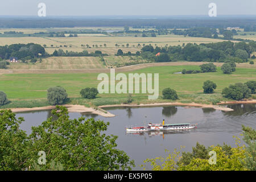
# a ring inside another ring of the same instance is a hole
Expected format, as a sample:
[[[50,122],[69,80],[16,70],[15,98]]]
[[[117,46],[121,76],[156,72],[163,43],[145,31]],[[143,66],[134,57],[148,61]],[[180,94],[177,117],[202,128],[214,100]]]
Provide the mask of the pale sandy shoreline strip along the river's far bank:
[[[151,106],[189,106],[189,107],[202,107],[202,108],[212,108],[216,110],[222,111],[233,111],[233,109],[220,106],[220,105],[228,105],[228,104],[256,104],[256,100],[249,101],[228,101],[228,102],[220,102],[218,105],[207,105],[207,104],[197,104],[197,103],[181,103],[181,102],[167,102],[167,103],[154,103],[154,104],[118,104],[118,105],[104,105],[98,106],[100,110],[93,109],[92,107],[85,107],[82,105],[63,105],[68,108],[70,113],[92,113],[98,114],[103,117],[114,117],[115,115],[105,111],[104,107],[151,107]],[[32,108],[12,108],[11,110],[14,113],[20,113],[25,111],[37,111],[37,110],[51,110],[56,109],[55,106],[44,106],[44,107],[32,107]]]

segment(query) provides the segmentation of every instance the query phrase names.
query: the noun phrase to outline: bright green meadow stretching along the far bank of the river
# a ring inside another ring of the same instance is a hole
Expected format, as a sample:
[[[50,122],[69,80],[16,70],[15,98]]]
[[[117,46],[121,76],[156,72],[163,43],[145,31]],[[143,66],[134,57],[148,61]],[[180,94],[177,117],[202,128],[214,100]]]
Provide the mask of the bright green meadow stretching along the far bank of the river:
[[[237,68],[232,75],[224,75],[218,67],[214,73],[173,74],[182,69],[200,70],[199,66],[182,65],[169,67],[150,67],[139,69],[131,73],[159,73],[159,95],[164,88],[175,89],[179,95],[179,102],[197,102],[212,104],[225,100],[221,91],[226,86],[236,82],[256,80],[256,69]],[[80,96],[80,90],[85,87],[96,87],[98,73],[63,73],[63,74],[3,74],[0,78],[0,90],[5,92],[13,102],[4,107],[32,107],[47,105],[47,89],[51,86],[63,86],[72,104],[106,105],[121,104],[126,100],[127,94],[99,94],[95,100],[85,100]],[[217,84],[213,94],[203,94],[203,82],[211,80]],[[154,86],[154,85],[153,85]],[[147,94],[133,94],[134,103],[170,102],[162,100],[147,100]],[[31,104],[34,103],[34,104]]]

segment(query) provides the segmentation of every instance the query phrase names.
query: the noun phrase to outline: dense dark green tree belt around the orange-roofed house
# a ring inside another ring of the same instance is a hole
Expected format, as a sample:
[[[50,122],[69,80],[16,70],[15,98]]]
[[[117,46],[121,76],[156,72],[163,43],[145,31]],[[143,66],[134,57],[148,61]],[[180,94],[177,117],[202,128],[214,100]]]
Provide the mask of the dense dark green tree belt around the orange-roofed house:
[[[247,61],[251,57],[251,53],[256,51],[256,43],[250,41],[249,43],[238,42],[233,43],[230,41],[200,44],[188,43],[181,46],[169,46],[169,47],[158,47],[144,46],[141,49],[141,55],[146,60],[158,60],[155,56],[160,52],[170,57],[165,61],[208,61],[208,62],[224,62],[225,60],[234,61],[236,63],[242,63]],[[162,59],[161,59],[162,60]],[[164,61],[164,60],[163,60]]]

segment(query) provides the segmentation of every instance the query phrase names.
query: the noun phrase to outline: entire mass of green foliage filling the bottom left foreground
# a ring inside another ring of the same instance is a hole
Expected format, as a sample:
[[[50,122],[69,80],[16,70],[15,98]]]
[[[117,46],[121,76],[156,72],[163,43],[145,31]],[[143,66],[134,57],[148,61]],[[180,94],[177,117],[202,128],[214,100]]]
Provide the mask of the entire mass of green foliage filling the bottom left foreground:
[[[125,170],[134,161],[116,149],[116,136],[106,135],[109,123],[69,119],[68,110],[57,106],[42,125],[32,127],[32,134],[19,129],[23,118],[11,110],[0,111],[0,170]],[[38,165],[39,151],[46,153],[46,165]]]

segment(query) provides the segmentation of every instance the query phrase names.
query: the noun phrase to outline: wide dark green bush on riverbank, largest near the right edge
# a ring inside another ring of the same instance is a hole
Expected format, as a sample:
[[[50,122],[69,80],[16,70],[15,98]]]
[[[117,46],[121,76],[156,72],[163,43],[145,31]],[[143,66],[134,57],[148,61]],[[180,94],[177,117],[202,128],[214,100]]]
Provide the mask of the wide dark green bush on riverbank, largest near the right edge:
[[[242,100],[243,98],[250,97],[251,90],[246,84],[236,83],[235,85],[229,85],[229,87],[222,90],[223,97],[233,100]]]

